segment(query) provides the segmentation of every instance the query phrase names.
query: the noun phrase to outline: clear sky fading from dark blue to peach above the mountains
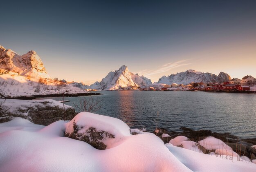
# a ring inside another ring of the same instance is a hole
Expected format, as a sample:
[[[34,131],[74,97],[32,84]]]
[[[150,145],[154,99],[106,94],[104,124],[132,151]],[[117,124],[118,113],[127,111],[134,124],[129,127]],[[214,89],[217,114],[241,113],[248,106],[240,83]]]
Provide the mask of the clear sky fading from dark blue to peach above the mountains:
[[[126,65],[153,82],[194,69],[256,78],[255,0],[5,1],[0,45],[52,78],[92,84]]]

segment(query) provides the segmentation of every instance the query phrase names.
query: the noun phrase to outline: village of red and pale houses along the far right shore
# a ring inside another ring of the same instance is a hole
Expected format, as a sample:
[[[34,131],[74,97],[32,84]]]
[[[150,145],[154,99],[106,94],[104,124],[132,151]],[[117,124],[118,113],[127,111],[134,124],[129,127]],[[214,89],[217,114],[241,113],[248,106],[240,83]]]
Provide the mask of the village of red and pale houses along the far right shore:
[[[253,76],[245,76],[242,79],[233,78],[223,83],[189,83],[186,85],[172,83],[168,84],[153,84],[150,87],[120,87],[121,90],[140,90],[140,91],[205,91],[205,92],[255,92],[256,78]],[[97,91],[95,89],[88,89],[88,91]]]

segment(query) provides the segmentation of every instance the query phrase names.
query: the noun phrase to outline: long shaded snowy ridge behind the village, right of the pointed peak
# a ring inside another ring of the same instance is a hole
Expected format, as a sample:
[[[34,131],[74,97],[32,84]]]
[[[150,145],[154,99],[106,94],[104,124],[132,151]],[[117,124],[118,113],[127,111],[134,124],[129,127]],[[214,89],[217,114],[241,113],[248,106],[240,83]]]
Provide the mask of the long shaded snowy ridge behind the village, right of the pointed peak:
[[[224,72],[220,72],[220,74],[217,76],[215,74],[211,74],[208,72],[203,73],[200,71],[195,71],[190,69],[177,74],[162,76],[162,78],[159,78],[157,83],[168,84],[168,85],[171,85],[172,83],[189,84],[191,82],[222,83],[225,81],[229,81],[230,79],[231,77],[229,76],[229,74],[226,74]]]

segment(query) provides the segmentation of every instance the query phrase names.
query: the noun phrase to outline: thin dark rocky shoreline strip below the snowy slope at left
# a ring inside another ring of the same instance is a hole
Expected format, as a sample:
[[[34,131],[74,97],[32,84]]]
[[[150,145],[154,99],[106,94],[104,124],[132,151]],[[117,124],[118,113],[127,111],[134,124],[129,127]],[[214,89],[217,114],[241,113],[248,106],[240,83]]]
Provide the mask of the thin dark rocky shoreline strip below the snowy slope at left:
[[[79,96],[96,96],[101,95],[100,93],[76,93],[76,94],[42,94],[42,95],[31,95],[31,96],[5,96],[8,99],[19,99],[19,100],[33,100],[35,98],[45,98],[45,97],[79,97]]]

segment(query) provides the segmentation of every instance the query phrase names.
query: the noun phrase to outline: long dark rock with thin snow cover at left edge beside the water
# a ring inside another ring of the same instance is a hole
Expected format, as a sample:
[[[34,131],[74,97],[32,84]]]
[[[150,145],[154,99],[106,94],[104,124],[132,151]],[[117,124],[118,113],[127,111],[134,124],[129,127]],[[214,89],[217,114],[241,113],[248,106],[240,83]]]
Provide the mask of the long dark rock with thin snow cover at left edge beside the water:
[[[0,122],[8,121],[10,116],[21,117],[35,124],[49,125],[59,120],[72,120],[77,114],[75,109],[68,105],[63,105],[52,99],[44,100],[16,100],[0,99],[2,109],[0,111]]]

